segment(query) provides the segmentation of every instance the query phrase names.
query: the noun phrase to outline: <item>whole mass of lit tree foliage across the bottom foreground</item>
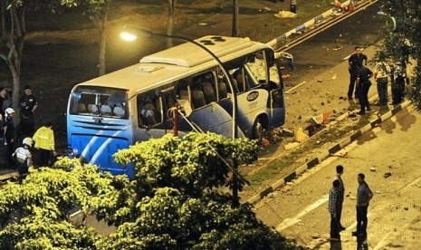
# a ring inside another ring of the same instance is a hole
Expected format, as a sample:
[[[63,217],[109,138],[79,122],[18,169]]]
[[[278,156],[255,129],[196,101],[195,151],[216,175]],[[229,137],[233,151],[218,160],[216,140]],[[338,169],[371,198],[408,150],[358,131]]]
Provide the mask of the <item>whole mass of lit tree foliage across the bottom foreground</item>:
[[[296,249],[248,204],[232,206],[229,162],[257,157],[249,139],[167,135],[121,149],[134,179],[99,173],[76,159],[33,170],[0,189],[0,248]],[[70,218],[74,207],[116,226],[100,236]]]

